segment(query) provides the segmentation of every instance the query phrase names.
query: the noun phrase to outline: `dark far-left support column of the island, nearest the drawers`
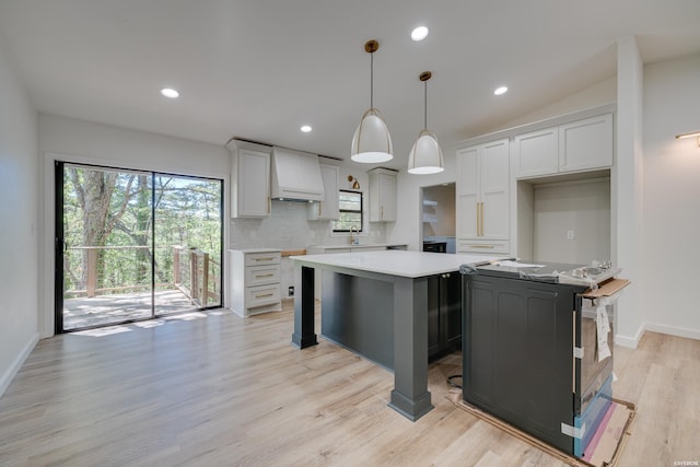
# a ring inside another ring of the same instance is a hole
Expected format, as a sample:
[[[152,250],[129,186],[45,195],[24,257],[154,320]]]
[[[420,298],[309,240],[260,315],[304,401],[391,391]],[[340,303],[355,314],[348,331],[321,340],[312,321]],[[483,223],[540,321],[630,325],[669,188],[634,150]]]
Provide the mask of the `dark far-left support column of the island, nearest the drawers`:
[[[316,313],[314,302],[314,268],[301,266],[296,269],[294,278],[294,287],[298,295],[294,299],[294,334],[292,334],[292,343],[300,349],[305,349],[306,347],[318,343],[314,329]]]

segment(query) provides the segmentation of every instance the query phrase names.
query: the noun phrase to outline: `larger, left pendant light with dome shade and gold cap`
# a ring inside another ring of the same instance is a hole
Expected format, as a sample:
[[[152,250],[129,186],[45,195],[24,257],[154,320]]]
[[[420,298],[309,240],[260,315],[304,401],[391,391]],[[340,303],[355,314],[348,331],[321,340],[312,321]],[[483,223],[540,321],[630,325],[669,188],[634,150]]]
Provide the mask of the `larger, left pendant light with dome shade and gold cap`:
[[[374,52],[380,48],[376,40],[368,40],[364,51],[372,57],[370,60],[370,109],[364,113],[352,138],[350,159],[354,162],[376,164],[394,159],[392,136],[386,128],[380,110],[374,108]]]

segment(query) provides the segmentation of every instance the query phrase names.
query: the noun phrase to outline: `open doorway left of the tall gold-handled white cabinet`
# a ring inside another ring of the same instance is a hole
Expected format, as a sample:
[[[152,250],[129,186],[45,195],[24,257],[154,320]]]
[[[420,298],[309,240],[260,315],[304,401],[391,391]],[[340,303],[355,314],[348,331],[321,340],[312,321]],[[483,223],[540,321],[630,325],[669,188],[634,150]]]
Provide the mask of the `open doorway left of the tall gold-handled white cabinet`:
[[[455,253],[455,184],[421,188],[423,252]]]

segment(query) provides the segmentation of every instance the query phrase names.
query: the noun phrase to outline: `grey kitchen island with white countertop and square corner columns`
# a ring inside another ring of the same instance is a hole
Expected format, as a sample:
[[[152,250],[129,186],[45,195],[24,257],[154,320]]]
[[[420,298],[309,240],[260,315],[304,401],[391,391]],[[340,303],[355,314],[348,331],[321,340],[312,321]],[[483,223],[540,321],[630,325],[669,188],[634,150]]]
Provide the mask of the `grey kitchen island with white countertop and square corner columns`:
[[[346,347],[364,357],[369,352],[368,358],[394,371],[389,407],[412,421],[432,409],[428,390],[429,278],[455,273],[463,264],[500,259],[402,250],[291,258],[298,291],[292,343],[300,349],[318,343],[314,278],[316,270],[322,271],[324,320],[339,319],[343,326],[362,330],[354,332],[361,338],[358,348],[347,343]]]

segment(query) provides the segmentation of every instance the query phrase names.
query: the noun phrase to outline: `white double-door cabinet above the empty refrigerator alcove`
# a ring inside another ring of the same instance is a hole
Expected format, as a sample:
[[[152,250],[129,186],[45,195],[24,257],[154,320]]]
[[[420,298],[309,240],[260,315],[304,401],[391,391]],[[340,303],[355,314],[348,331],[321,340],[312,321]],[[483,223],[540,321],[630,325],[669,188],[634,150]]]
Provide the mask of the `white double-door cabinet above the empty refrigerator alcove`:
[[[612,166],[612,115],[517,135],[513,159],[517,178]]]

